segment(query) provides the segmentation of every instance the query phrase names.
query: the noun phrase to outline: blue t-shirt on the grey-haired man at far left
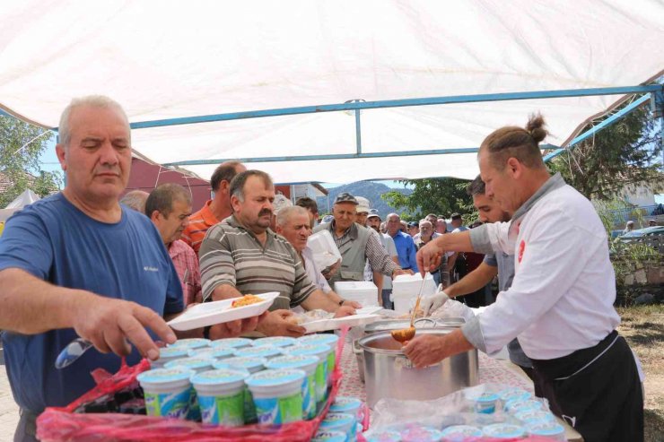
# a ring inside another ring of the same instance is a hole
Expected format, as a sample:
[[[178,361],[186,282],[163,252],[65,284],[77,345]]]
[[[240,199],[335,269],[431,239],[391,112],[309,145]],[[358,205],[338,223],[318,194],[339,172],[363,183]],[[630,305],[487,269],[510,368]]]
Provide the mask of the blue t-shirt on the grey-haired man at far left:
[[[182,311],[182,288],[159,232],[139,212],[122,207],[117,223],[93,220],[62,194],[49,196],[7,221],[0,238],[0,270],[22,269],[54,285],[132,300],[158,314]],[[41,311],[39,315],[48,315]],[[115,373],[120,358],[87,351],[56,369],[57,354],[77,335],[74,329],[3,336],[4,360],[16,403],[39,413],[64,406],[95,385],[90,372]],[[135,349],[127,357],[140,360]]]

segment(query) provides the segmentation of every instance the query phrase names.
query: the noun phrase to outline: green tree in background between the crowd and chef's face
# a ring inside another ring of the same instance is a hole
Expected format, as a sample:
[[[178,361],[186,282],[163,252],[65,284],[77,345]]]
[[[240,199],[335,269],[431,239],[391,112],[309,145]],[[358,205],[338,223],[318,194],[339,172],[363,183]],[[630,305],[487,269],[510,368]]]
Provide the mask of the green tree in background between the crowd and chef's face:
[[[468,181],[459,178],[406,179],[400,183],[415,186],[410,195],[389,191],[381,196],[393,207],[405,207],[406,220],[418,221],[427,213],[449,217],[452,212],[469,212],[473,200],[466,193]],[[473,209],[474,210],[474,209]]]

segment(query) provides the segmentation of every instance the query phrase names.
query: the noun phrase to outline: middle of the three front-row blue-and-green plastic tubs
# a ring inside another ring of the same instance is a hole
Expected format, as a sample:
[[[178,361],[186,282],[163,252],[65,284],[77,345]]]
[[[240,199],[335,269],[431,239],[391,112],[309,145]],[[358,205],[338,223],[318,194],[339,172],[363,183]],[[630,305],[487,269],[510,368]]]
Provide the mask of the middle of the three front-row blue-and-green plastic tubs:
[[[216,369],[191,378],[204,423],[240,427],[244,425],[244,379],[249,373]]]

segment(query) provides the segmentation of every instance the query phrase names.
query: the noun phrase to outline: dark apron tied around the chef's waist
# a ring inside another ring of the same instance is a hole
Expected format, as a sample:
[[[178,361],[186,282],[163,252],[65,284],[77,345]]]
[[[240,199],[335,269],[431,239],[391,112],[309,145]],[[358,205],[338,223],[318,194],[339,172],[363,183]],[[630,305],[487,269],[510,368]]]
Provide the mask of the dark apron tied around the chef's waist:
[[[616,331],[594,347],[532,362],[551,411],[585,442],[643,440],[641,381],[633,353]]]

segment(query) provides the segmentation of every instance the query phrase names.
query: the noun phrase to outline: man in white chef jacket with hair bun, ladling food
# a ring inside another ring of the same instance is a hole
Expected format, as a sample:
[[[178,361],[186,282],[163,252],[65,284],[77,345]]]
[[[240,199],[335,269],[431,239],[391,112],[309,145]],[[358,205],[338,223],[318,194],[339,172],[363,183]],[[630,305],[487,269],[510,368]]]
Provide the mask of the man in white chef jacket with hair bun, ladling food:
[[[460,330],[415,336],[405,352],[419,368],[473,348],[492,354],[518,336],[551,410],[586,442],[642,440],[642,390],[632,351],[616,333],[607,235],[590,201],[546,170],[543,126],[532,117],[526,129],[502,127],[480,146],[486,195],[514,213],[511,221],[442,235],[417,254],[423,270],[449,250],[514,255],[511,288]]]

